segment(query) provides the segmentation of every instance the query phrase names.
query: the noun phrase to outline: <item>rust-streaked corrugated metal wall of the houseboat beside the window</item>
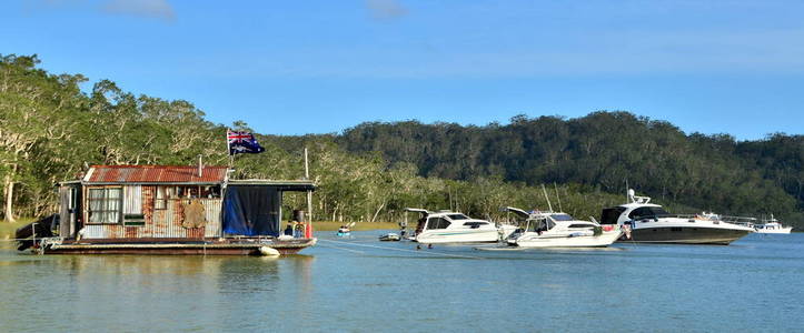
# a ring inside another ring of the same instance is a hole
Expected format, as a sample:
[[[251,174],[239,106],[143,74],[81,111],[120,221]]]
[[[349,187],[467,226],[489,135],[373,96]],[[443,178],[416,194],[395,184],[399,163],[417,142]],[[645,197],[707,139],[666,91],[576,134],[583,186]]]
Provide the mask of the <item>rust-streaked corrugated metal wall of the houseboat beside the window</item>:
[[[222,200],[217,199],[192,199],[204,204],[207,224],[204,228],[185,229],[183,204],[189,199],[169,199],[167,209],[153,209],[153,195],[156,186],[139,186],[140,206],[145,214],[146,225],[123,226],[120,224],[87,225],[83,238],[86,239],[117,239],[117,238],[218,238],[221,235],[220,209]],[[128,200],[126,200],[128,202]]]

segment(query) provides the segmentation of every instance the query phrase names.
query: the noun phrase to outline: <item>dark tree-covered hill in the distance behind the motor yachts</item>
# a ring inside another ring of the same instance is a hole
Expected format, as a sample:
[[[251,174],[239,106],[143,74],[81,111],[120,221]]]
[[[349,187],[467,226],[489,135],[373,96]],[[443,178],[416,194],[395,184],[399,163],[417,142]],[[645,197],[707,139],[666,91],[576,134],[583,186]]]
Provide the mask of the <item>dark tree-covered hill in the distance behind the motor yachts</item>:
[[[426,176],[580,183],[622,193],[625,182],[659,202],[721,212],[791,214],[804,209],[804,135],[758,141],[685,134],[628,112],[583,118],[517,115],[506,125],[416,121],[357,125],[337,138],[353,152],[379,151]]]

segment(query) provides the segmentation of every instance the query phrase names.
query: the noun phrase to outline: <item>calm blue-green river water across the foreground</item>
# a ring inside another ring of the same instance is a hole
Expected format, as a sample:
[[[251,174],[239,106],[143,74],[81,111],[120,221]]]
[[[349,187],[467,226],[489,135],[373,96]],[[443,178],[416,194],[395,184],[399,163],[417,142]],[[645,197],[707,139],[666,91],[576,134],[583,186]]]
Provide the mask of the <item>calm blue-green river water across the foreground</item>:
[[[0,249],[0,331],[801,331],[804,234],[479,251],[319,233],[280,259]]]

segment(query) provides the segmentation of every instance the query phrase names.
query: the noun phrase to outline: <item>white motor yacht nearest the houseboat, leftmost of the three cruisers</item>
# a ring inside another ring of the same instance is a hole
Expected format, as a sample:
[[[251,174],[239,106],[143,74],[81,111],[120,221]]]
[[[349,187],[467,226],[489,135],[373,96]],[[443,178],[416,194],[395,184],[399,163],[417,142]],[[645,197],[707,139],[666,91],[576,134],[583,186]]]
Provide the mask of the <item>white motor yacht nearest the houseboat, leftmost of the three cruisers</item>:
[[[421,215],[413,240],[424,244],[497,242],[516,230],[515,225],[497,225],[453,211],[405,210]]]

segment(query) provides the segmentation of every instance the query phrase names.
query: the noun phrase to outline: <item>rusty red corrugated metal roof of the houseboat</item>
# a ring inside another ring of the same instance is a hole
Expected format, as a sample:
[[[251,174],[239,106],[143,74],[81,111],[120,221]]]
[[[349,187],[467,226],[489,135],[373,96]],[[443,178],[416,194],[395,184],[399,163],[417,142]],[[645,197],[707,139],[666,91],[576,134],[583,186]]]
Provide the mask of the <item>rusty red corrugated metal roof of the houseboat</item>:
[[[168,165],[92,165],[87,172],[88,183],[222,183],[226,167]]]

